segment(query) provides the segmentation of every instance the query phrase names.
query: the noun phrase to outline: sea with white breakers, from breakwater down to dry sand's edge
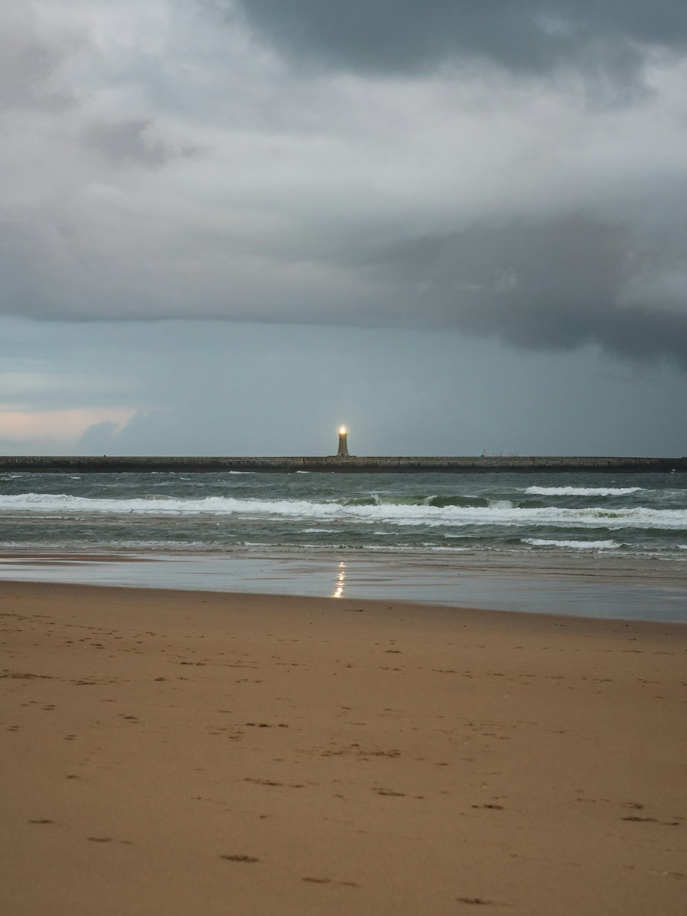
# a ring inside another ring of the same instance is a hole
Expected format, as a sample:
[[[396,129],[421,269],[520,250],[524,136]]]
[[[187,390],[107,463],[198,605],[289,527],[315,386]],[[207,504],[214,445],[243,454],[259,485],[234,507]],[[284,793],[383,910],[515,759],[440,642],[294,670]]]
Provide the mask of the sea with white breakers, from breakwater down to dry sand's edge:
[[[0,474],[0,578],[687,622],[687,474]]]

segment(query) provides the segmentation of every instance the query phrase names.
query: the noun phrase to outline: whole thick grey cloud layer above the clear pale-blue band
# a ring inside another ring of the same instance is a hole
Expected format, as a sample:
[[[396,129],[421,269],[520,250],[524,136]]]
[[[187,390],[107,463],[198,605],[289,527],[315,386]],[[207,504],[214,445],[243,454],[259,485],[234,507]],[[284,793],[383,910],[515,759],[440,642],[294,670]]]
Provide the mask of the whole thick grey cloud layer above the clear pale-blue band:
[[[0,311],[687,367],[686,55],[677,2],[0,0]]]

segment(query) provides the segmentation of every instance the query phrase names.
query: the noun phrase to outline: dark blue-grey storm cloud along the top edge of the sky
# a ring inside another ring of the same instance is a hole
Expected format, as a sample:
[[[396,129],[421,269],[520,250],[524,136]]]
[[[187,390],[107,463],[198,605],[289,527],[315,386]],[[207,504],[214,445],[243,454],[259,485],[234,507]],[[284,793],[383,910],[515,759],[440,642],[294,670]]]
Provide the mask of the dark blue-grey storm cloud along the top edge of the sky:
[[[222,0],[220,0],[222,3]],[[240,0],[290,55],[347,70],[427,71],[485,58],[537,73],[580,63],[630,72],[644,49],[687,46],[683,0]]]

